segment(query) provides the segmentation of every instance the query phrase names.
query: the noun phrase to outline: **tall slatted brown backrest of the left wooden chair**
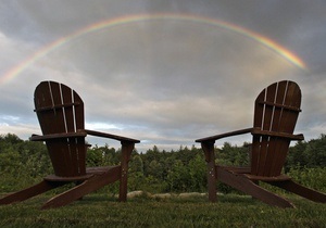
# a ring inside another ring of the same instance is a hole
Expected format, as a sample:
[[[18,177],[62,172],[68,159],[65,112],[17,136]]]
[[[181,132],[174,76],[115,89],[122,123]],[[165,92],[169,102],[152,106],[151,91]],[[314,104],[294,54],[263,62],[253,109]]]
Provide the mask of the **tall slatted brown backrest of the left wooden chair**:
[[[42,81],[35,89],[34,102],[42,135],[52,136],[46,144],[54,174],[60,177],[85,175],[85,136],[73,136],[78,129],[84,129],[80,97],[63,84]]]

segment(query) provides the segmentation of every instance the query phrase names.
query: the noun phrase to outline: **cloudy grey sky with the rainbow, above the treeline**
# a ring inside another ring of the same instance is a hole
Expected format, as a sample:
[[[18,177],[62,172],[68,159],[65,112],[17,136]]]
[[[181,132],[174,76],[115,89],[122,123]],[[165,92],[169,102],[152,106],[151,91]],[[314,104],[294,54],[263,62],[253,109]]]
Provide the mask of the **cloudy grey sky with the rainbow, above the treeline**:
[[[88,129],[139,139],[138,151],[200,147],[251,127],[260,91],[293,80],[294,131],[316,139],[326,132],[325,11],[323,0],[2,0],[0,135],[41,134],[34,90],[54,80],[83,98]]]

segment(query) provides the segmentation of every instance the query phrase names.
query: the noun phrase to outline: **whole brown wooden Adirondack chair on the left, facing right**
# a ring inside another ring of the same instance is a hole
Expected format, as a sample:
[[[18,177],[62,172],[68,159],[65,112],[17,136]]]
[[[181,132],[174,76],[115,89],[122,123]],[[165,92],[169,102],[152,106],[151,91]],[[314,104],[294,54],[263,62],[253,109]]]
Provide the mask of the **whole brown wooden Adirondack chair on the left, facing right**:
[[[63,84],[42,81],[37,86],[34,96],[35,112],[42,136],[33,135],[30,140],[46,141],[54,175],[45,177],[33,187],[0,199],[0,204],[23,201],[57,187],[76,182],[74,188],[50,199],[42,208],[63,206],[117,180],[120,180],[120,201],[126,201],[128,162],[135,143],[140,141],[85,129],[83,100]],[[121,164],[87,168],[86,152],[89,147],[85,142],[87,135],[121,141]]]

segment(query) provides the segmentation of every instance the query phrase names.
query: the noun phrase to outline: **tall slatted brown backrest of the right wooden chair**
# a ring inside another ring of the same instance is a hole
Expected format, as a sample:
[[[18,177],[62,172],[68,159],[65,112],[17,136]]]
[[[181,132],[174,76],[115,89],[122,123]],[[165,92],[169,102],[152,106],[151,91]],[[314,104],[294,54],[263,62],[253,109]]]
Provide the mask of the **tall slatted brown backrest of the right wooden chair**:
[[[274,177],[281,173],[290,137],[301,104],[299,86],[289,80],[275,83],[256,98],[251,148],[251,175]]]

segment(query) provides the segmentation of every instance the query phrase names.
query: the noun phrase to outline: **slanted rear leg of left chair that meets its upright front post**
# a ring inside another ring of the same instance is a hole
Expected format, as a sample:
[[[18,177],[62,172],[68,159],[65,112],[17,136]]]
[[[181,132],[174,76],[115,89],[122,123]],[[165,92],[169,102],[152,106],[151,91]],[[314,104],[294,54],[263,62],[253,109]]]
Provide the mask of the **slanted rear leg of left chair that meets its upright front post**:
[[[77,185],[70,190],[51,198],[48,202],[43,204],[42,210],[67,205],[90,192],[93,192],[111,182],[118,180],[120,176],[120,166],[115,166],[104,173],[95,174],[92,177],[85,180],[80,185]]]

